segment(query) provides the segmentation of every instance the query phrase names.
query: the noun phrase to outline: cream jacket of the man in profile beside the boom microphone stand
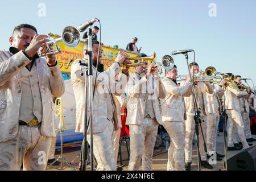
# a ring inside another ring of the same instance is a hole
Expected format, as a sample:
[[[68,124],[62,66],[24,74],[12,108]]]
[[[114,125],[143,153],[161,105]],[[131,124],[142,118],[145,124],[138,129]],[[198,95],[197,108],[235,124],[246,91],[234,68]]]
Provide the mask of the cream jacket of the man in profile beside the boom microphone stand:
[[[162,82],[166,89],[166,97],[160,99],[162,122],[184,121],[186,110],[183,96],[191,95],[191,82],[187,81],[179,87],[168,77],[164,77]]]

